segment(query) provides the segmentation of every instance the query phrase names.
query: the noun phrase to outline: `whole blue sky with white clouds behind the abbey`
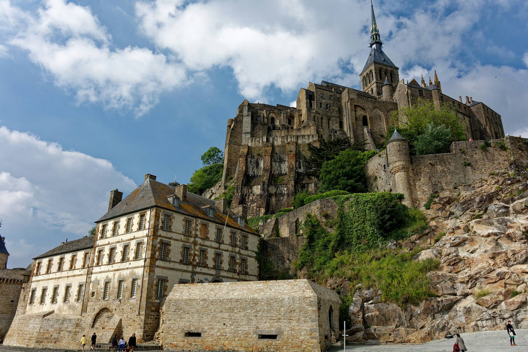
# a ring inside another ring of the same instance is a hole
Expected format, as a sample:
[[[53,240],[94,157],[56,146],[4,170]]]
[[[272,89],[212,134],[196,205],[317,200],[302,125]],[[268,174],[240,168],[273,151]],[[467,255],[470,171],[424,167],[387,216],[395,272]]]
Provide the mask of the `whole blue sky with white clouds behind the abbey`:
[[[400,78],[497,111],[528,137],[528,3],[374,0]],[[365,0],[0,0],[0,234],[8,268],[86,235],[154,174],[186,183],[243,99],[360,88]]]

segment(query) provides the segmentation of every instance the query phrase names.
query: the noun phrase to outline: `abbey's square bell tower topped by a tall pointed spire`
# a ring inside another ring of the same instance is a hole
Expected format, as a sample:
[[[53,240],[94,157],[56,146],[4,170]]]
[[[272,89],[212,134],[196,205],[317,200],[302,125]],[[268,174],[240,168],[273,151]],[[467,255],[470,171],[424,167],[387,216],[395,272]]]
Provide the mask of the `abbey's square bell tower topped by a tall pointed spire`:
[[[366,60],[363,71],[360,73],[361,78],[361,90],[372,94],[373,96],[382,96],[383,84],[385,79],[394,85],[400,80],[398,73],[399,68],[394,65],[389,59],[381,46],[380,30],[378,24],[376,24],[376,16],[374,15],[374,5],[372,0],[370,2],[372,25],[370,27],[370,54]]]

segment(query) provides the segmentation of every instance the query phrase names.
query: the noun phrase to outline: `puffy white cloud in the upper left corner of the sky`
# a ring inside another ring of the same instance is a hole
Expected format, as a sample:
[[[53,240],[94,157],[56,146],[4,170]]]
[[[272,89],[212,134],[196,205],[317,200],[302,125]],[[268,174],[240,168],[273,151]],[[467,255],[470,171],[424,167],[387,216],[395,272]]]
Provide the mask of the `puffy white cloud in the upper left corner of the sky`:
[[[79,102],[134,109],[141,116],[160,94],[188,81],[183,66],[163,53],[137,46],[111,49],[111,35],[89,7],[48,0],[35,15],[14,6],[6,13],[11,22],[23,17],[25,24],[10,44],[29,51],[30,59]]]

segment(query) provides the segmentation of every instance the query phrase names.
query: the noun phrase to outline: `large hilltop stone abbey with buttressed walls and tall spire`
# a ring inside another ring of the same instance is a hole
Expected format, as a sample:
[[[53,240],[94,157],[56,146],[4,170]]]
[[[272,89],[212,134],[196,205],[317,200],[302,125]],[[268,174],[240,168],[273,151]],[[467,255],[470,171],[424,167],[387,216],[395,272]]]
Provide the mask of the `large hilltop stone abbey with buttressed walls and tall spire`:
[[[233,206],[246,205],[248,216],[290,207],[296,192],[315,192],[317,180],[305,176],[307,144],[335,136],[364,140],[377,149],[394,125],[394,111],[427,99],[440,108],[452,104],[466,137],[504,137],[501,116],[483,102],[442,93],[435,72],[429,84],[400,80],[399,68],[382,49],[374,8],[370,53],[360,73],[361,90],[322,81],[300,89],[296,108],[244,100],[228,120],[222,185],[234,182]]]

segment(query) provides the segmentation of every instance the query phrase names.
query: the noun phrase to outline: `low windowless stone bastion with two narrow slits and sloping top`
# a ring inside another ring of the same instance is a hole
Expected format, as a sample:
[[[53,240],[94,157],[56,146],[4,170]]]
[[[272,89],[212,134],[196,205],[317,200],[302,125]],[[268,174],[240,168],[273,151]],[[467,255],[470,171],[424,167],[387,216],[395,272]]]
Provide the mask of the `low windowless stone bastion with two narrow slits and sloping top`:
[[[164,349],[322,351],[338,339],[340,303],[308,280],[178,284],[156,337]]]

